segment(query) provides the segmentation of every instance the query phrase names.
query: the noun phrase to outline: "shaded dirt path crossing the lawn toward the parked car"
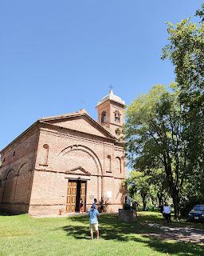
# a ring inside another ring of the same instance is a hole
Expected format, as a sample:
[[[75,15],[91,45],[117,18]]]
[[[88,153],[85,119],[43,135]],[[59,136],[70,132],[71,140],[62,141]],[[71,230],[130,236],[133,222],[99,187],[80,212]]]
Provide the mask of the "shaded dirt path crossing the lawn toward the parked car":
[[[179,242],[204,243],[204,230],[198,230],[192,227],[160,226],[157,223],[148,223],[148,225],[161,230],[161,232],[152,232],[148,234],[151,238],[176,240]]]

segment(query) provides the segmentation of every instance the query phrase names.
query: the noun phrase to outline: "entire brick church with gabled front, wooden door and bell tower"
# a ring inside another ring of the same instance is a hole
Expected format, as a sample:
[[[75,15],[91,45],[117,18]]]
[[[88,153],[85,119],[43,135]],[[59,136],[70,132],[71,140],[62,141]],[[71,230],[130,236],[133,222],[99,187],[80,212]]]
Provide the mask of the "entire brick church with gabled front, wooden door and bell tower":
[[[40,118],[1,152],[0,210],[46,215],[84,211],[96,198],[116,212],[126,178],[124,101],[98,102],[98,122],[86,112]]]

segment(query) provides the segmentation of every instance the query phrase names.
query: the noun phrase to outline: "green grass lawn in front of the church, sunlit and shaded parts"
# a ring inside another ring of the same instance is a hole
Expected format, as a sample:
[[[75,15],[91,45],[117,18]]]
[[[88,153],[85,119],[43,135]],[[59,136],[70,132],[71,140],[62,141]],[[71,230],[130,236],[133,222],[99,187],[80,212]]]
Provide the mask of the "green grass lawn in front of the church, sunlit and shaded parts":
[[[100,216],[100,240],[91,242],[88,216],[31,218],[26,214],[0,216],[0,255],[204,255],[202,244],[151,238],[164,223],[158,213],[141,212],[139,222],[119,222],[114,215]],[[189,226],[173,222],[171,226]],[[203,228],[203,224],[193,224]]]

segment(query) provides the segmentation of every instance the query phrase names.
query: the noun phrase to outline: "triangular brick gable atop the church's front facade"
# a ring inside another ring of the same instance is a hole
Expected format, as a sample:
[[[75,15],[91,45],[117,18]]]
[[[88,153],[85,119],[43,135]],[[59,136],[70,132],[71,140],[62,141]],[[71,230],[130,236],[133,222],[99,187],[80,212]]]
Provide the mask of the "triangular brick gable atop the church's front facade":
[[[91,118],[86,115],[79,115],[75,117],[67,117],[53,120],[46,120],[50,124],[55,126],[60,126],[63,128],[68,128],[71,130],[77,130],[86,134],[93,134],[103,138],[114,138],[108,131],[104,130],[103,127],[96,124]]]

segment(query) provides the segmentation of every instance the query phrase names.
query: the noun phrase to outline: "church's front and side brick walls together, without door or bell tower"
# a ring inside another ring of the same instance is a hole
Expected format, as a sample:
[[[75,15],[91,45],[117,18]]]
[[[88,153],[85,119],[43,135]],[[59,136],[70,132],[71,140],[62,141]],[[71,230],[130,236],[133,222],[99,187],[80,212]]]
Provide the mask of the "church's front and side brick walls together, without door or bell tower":
[[[78,178],[87,181],[87,210],[93,198],[101,197],[109,212],[122,206],[124,148],[97,126],[94,131],[90,122],[79,120],[71,124],[76,130],[69,122],[63,122],[65,127],[40,123],[2,150],[1,210],[58,214],[66,207],[69,179]]]

